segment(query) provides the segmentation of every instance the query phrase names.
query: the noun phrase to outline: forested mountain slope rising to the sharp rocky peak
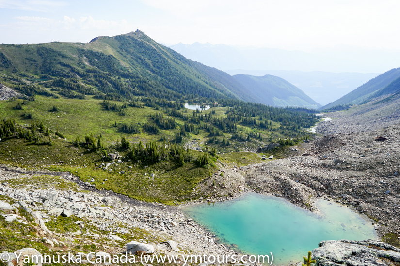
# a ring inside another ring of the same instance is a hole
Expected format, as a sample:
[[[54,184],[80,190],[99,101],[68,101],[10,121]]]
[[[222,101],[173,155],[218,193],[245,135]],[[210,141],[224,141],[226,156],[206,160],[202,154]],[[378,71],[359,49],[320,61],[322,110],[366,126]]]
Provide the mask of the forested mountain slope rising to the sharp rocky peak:
[[[55,79],[67,97],[250,100],[228,74],[186,59],[140,30],[97,37],[87,44],[1,44],[0,62],[5,74]]]

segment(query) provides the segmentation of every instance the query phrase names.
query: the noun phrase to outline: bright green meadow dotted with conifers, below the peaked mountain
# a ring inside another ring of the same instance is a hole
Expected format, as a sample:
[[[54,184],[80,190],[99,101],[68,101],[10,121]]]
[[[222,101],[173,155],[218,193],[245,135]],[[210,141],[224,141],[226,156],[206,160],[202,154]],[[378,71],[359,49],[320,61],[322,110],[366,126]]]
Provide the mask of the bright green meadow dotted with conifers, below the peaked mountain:
[[[107,110],[104,102],[94,96],[86,96],[85,99],[56,96],[59,98],[38,95],[31,101],[0,101],[0,116],[15,119],[16,125],[9,133],[6,131],[9,125],[0,126],[0,164],[70,171],[83,181],[93,178],[95,181],[92,184],[97,188],[147,201],[169,203],[185,200],[198,182],[221,167],[218,158],[227,165],[242,165],[243,151],[255,150],[278,137],[307,135],[304,130],[295,133],[296,123],[285,118],[293,111],[285,109],[272,109],[270,115],[274,120],[243,117],[231,124],[225,119],[238,119],[239,115],[234,115],[235,107],[218,106],[196,112],[159,105],[149,107],[140,102],[142,107],[128,106],[122,115],[120,111]],[[117,101],[112,103],[122,105]],[[16,106],[21,106],[22,110]],[[309,117],[307,123],[315,122],[313,115],[295,112]],[[172,118],[175,128],[168,128],[165,123],[156,120],[159,114],[163,114],[164,122]],[[196,122],[201,117],[203,121]],[[223,120],[226,124],[221,123]],[[260,127],[263,121],[267,128]],[[127,133],[124,124],[135,127],[137,131]],[[146,124],[154,125],[158,131],[147,129]],[[93,142],[90,140],[92,136]],[[98,144],[99,140],[101,144]],[[175,155],[168,153],[167,157],[155,161],[148,160],[152,158],[151,154],[144,157],[132,154],[132,150],[139,147],[139,142],[146,145],[154,140],[159,145],[159,152],[162,145],[177,145],[178,149],[186,149],[184,147],[190,147],[187,145],[193,142],[204,152],[188,150],[191,157],[183,158],[183,163],[180,162],[179,150]],[[129,145],[124,147],[124,141],[128,141]],[[122,156],[122,163],[114,163],[104,169],[104,164],[110,163],[104,156],[115,151]],[[261,162],[261,155],[245,153],[246,158],[255,158],[251,163]],[[208,154],[208,163],[198,164],[204,154]],[[104,163],[103,166],[101,163]],[[149,177],[152,173],[155,178]]]

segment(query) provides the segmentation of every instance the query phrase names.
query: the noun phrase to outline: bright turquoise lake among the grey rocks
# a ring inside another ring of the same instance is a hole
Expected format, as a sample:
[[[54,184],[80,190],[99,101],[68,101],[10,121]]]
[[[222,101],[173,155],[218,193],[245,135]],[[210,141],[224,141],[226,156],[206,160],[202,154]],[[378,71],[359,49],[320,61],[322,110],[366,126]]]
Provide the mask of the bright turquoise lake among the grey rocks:
[[[183,207],[202,227],[240,253],[273,255],[273,264],[303,261],[323,240],[376,239],[372,222],[332,201],[317,200],[315,214],[288,201],[256,193],[240,198]]]

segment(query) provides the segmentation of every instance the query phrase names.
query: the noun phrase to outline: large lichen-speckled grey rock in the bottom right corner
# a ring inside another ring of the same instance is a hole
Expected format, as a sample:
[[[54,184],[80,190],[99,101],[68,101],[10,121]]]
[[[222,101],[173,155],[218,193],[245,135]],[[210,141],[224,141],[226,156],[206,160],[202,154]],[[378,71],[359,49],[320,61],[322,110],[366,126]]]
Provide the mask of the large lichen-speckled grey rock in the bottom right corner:
[[[400,263],[400,249],[374,240],[322,241],[313,250],[317,266],[391,266]]]

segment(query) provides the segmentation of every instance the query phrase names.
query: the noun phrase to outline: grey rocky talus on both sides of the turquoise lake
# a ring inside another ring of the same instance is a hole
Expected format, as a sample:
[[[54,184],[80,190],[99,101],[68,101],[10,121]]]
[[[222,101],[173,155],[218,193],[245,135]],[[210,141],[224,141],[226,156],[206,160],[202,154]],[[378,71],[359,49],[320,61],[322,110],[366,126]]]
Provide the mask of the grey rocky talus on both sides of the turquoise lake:
[[[324,198],[359,212],[375,225],[380,239],[321,242],[313,251],[317,266],[400,265],[400,125],[322,136],[321,130],[332,131],[334,126],[331,121],[321,122],[317,127],[320,136],[286,148],[284,159],[221,167],[196,186],[192,197],[198,200],[187,204],[205,202],[202,195],[212,195],[207,201],[222,201],[257,192],[318,212],[315,200]],[[3,166],[0,179],[4,217],[0,242],[7,252],[16,251],[16,243],[26,243],[31,250],[18,252],[103,256],[134,251],[138,258],[142,251],[240,253],[240,247],[221,243],[185,217],[180,206],[145,203],[97,190],[70,173]]]

